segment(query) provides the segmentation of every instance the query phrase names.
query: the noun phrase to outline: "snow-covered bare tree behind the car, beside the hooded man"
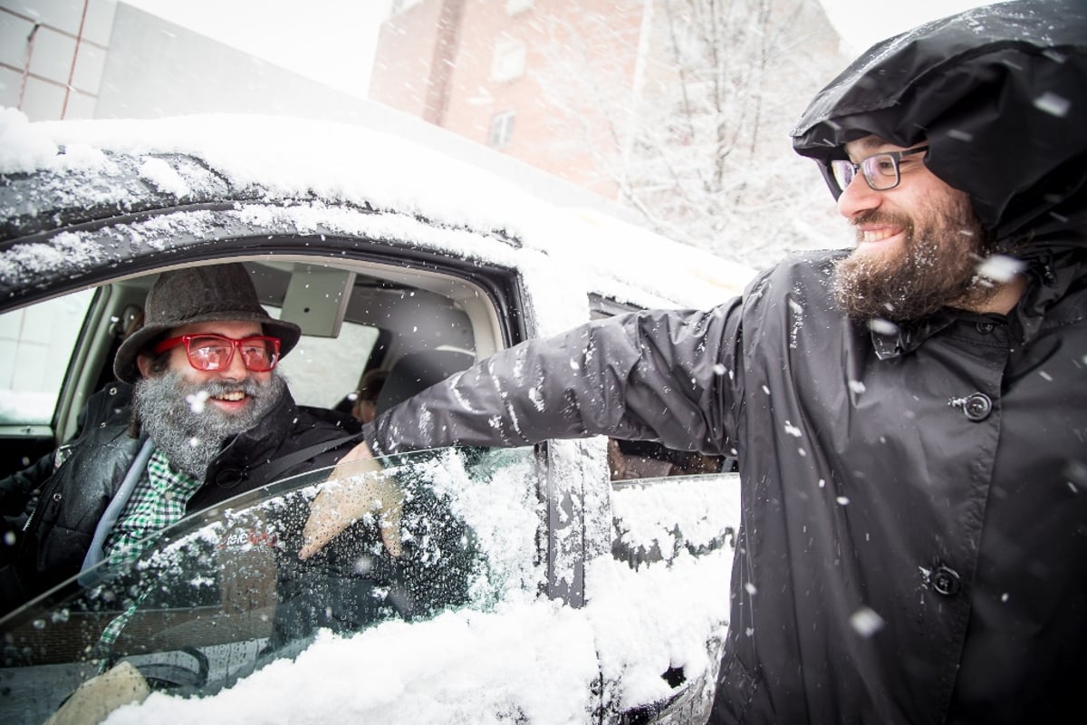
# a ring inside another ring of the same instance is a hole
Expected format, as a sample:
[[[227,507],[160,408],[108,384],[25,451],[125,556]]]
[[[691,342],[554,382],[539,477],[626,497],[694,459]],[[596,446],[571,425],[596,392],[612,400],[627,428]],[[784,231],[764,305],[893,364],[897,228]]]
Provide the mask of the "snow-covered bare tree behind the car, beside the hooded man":
[[[846,62],[815,0],[616,0],[548,22],[537,82],[579,121],[567,150],[591,149],[648,226],[754,266],[846,243],[819,172],[789,145]]]

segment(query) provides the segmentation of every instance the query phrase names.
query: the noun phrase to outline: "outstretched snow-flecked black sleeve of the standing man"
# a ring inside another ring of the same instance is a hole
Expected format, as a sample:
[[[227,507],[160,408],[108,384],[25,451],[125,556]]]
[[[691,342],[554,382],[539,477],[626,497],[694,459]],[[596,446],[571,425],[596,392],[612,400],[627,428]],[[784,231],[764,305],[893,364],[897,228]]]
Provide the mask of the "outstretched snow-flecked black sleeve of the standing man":
[[[646,311],[503,350],[365,427],[377,454],[608,435],[735,454],[740,300]]]

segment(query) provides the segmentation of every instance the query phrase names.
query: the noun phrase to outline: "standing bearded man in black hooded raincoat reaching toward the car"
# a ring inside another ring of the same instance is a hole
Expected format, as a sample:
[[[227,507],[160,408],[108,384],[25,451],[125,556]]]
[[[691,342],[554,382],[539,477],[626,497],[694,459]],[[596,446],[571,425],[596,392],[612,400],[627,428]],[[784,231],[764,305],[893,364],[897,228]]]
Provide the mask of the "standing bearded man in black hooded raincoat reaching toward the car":
[[[1001,3],[886,40],[816,96],[794,145],[852,252],[790,259],[710,311],[528,341],[366,440],[608,435],[738,455],[712,722],[1078,722],[1087,4]],[[334,529],[329,500],[309,550]]]

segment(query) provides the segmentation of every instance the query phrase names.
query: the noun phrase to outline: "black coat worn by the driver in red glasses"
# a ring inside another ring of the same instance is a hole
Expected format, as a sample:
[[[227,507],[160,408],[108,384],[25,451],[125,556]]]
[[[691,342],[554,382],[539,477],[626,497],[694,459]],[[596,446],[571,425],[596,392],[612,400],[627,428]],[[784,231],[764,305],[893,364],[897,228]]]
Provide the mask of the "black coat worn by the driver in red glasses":
[[[63,463],[41,487],[16,561],[4,572],[4,610],[79,572],[95,528],[143,442],[128,434],[128,408],[112,412],[62,448]],[[298,407],[285,392],[255,427],[212,461],[187,510],[200,511],[273,480],[332,465],[358,442],[353,436],[359,429],[354,418]],[[332,446],[320,450],[323,443]],[[277,463],[314,446],[304,461],[287,467]]]

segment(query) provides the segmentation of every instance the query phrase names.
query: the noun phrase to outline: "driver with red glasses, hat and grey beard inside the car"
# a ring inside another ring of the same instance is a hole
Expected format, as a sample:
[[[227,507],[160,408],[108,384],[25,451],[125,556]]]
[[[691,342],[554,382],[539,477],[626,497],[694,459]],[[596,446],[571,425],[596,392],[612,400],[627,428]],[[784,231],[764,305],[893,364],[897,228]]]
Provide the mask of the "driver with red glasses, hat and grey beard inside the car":
[[[335,463],[359,423],[296,405],[276,365],[300,335],[264,311],[241,264],[163,273],[142,327],[117,349],[121,383],[92,396],[76,439],[32,468],[48,476],[0,482],[5,515],[33,509],[0,570],[3,609],[103,559],[138,558],[186,513]]]

